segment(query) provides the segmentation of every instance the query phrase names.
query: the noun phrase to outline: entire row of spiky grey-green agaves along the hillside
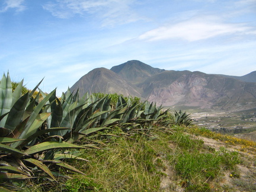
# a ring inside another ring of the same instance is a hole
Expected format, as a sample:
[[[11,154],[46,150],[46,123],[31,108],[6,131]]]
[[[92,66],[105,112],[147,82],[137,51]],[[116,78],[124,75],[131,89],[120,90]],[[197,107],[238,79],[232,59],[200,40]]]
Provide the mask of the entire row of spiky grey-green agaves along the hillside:
[[[139,103],[137,99],[115,95],[113,104],[111,95],[85,94],[79,98],[79,90],[74,93],[69,88],[57,98],[56,90],[44,94],[40,83],[24,94],[23,81],[13,91],[9,73],[1,79],[0,177],[4,180],[37,178],[43,172],[47,179],[56,181],[57,167],[82,174],[60,161],[79,158],[65,150],[98,149],[91,143],[104,144],[97,138],[114,136],[114,126],[126,132],[148,134],[153,124],[170,123],[168,110],[155,103]],[[36,89],[39,92],[35,95]],[[183,120],[177,117],[177,122],[190,123],[187,114],[180,116]],[[90,143],[75,145],[82,138]]]

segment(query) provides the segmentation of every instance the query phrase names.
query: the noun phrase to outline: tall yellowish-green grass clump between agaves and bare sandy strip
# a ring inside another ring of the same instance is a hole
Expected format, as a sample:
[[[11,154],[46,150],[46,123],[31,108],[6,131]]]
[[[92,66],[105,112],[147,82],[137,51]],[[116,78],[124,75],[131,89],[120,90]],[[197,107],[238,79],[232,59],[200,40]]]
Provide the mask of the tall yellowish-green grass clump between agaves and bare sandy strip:
[[[150,143],[145,136],[119,137],[105,149],[85,152],[82,157],[89,162],[75,164],[81,165],[87,177],[72,190],[90,187],[95,188],[91,191],[158,191],[161,174],[153,163],[156,151]],[[68,181],[68,185],[72,183]]]

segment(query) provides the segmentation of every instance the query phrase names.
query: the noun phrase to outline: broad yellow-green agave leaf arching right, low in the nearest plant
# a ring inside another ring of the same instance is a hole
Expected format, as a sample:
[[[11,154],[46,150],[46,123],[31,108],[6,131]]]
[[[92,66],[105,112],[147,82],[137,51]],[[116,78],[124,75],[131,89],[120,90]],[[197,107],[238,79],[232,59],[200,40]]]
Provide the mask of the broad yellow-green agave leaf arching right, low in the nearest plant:
[[[39,143],[37,145],[33,145],[30,148],[28,148],[25,153],[28,155],[33,155],[35,153],[40,153],[43,151],[47,151],[50,149],[66,149],[66,148],[81,148],[85,149],[84,146],[78,146],[78,145],[73,145],[71,143],[66,143],[66,142],[55,142],[55,141],[49,141],[49,142],[43,142]]]

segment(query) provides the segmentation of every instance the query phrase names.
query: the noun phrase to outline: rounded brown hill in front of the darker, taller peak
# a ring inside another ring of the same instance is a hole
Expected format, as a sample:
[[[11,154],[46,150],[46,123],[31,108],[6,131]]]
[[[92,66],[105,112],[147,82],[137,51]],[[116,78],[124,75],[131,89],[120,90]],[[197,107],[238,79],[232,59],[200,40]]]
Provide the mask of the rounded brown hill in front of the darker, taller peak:
[[[79,89],[79,94],[84,95],[86,92],[104,92],[119,93],[124,96],[140,96],[128,82],[121,78],[117,73],[106,68],[96,68],[82,76],[71,88],[71,91]]]

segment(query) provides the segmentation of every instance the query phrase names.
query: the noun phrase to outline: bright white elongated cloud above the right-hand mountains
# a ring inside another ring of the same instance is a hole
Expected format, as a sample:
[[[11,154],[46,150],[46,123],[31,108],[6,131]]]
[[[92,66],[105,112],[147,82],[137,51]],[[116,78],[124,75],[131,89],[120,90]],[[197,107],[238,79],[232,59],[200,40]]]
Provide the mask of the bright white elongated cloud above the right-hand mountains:
[[[197,41],[226,34],[248,33],[249,30],[249,27],[242,24],[222,23],[212,18],[209,20],[207,18],[190,19],[155,28],[139,36],[139,39],[148,41],[166,39]]]

